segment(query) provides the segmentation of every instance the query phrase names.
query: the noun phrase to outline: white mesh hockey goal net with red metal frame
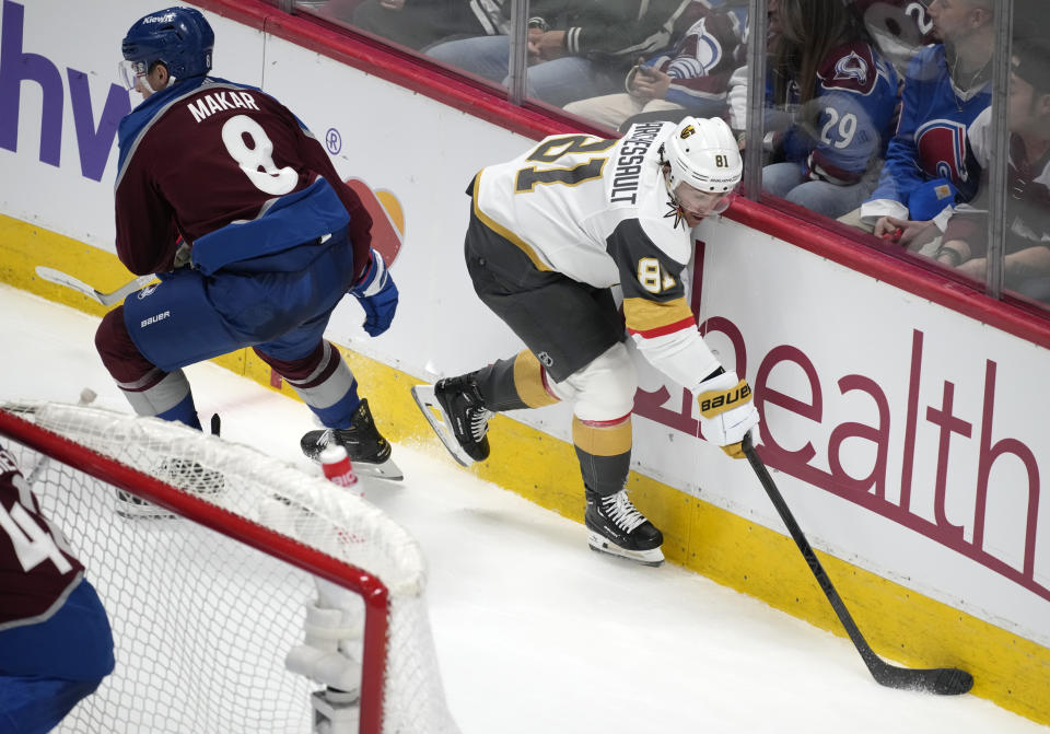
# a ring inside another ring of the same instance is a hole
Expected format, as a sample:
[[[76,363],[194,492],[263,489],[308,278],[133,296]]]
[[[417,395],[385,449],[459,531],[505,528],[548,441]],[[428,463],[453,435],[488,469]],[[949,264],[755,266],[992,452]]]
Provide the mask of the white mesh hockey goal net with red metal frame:
[[[420,548],[378,509],[254,448],[93,407],[0,405],[0,442],[113,627],[116,669],[58,731],[458,731]],[[186,488],[173,462],[211,486]],[[173,516],[125,516],[120,490]],[[324,678],[285,666],[318,604],[338,610],[337,655],[360,663],[331,721],[318,713]]]

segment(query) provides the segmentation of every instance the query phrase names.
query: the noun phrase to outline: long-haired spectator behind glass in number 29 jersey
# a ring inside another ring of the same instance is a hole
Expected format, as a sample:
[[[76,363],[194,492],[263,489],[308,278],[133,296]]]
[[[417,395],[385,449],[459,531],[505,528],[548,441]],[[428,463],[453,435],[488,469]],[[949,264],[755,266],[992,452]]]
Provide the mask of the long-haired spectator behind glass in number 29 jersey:
[[[875,188],[892,133],[897,72],[852,7],[770,0],[762,188],[825,217]]]

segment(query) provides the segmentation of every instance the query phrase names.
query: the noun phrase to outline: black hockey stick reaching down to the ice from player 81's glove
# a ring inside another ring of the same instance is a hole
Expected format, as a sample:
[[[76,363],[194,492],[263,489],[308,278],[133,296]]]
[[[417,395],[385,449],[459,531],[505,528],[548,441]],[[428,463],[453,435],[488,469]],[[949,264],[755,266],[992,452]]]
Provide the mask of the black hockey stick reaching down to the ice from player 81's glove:
[[[788,526],[791,537],[802,551],[803,558],[806,559],[806,563],[809,566],[809,570],[813,571],[813,575],[816,576],[820,589],[824,590],[825,596],[827,596],[828,602],[831,603],[831,608],[835,609],[839,621],[841,621],[842,627],[845,628],[845,633],[850,636],[850,639],[853,641],[853,646],[861,653],[864,664],[867,665],[867,669],[875,680],[889,688],[923,690],[942,696],[955,696],[967,692],[973,686],[973,676],[966,671],[960,671],[955,667],[921,669],[898,667],[890,665],[875,654],[875,651],[867,644],[867,640],[861,634],[861,630],[856,627],[856,622],[853,621],[853,617],[850,616],[849,609],[845,608],[842,597],[839,596],[839,593],[835,590],[835,585],[831,583],[831,579],[828,578],[827,571],[820,566],[820,561],[817,559],[816,554],[813,552],[809,541],[806,540],[802,528],[798,527],[798,523],[795,522],[791,510],[788,509],[788,503],[784,502],[783,496],[780,493],[780,490],[777,489],[777,485],[773,483],[772,477],[769,476],[769,470],[755,451],[750,433],[744,438],[744,454],[747,456],[751,468],[755,469],[759,481],[762,482],[762,487],[766,489],[766,493],[769,494],[769,499],[772,500],[773,506],[777,508],[777,512],[780,513],[781,520],[783,520]]]

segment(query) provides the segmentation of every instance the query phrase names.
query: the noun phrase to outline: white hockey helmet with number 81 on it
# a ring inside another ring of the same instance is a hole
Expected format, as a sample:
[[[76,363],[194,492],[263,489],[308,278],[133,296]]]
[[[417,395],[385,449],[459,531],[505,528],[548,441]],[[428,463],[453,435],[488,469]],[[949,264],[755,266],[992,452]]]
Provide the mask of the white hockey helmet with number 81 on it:
[[[733,131],[720,117],[686,117],[664,143],[670,164],[667,186],[686,183],[708,194],[732,191],[740,183],[744,161]]]

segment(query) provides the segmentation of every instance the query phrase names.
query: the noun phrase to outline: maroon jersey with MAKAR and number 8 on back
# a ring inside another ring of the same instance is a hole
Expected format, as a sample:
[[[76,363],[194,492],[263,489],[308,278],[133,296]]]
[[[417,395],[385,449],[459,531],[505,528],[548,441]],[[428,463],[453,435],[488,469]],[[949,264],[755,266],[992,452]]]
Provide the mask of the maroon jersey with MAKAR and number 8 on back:
[[[318,177],[351,221],[366,217],[310,130],[252,86],[213,77],[173,84],[121,120],[119,147],[116,248],[135,273],[171,270],[178,235],[192,244],[232,222],[257,220]],[[368,240],[355,237],[361,269],[368,252]]]

